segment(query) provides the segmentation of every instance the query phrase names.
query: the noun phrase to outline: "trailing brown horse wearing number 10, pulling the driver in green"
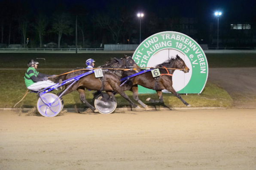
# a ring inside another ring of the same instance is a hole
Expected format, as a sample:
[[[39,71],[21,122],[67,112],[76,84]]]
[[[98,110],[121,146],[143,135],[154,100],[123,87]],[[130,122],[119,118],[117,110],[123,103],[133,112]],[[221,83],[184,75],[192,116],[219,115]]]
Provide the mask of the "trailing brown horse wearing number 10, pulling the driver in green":
[[[91,108],[91,110],[94,110],[94,112],[98,112],[98,110],[95,107],[93,107],[91,104],[88,103],[88,101],[86,101],[85,89],[97,90],[97,91],[104,90],[110,96],[111,101],[115,100],[113,91],[116,91],[126,100],[128,100],[132,107],[140,108],[139,106],[134,104],[134,102],[131,101],[131,99],[125,94],[123,89],[120,87],[120,84],[121,84],[120,79],[121,79],[122,73],[124,72],[124,68],[136,69],[136,72],[140,71],[140,67],[137,66],[134,60],[132,60],[132,58],[128,56],[124,56],[121,60],[116,58],[111,58],[106,65],[101,66],[101,68],[99,69],[104,69],[104,68],[106,68],[106,70],[107,68],[112,68],[112,69],[108,69],[107,72],[104,72],[104,76],[102,78],[95,78],[94,74],[90,74],[83,78],[80,78],[79,81],[73,84],[72,87],[67,89],[67,91],[59,92],[57,95],[61,95],[61,93],[63,92],[64,92],[63,95],[66,95],[70,92],[77,90],[80,94],[80,100],[83,103],[85,103],[87,107]],[[82,70],[82,71],[76,71],[76,72],[71,72],[65,75],[61,75],[55,78],[55,82],[57,83],[60,79],[67,80],[89,71],[90,70]],[[67,88],[67,86],[69,85],[70,83],[66,84],[65,88]],[[103,100],[104,102],[107,102],[105,98],[102,98],[101,100]]]

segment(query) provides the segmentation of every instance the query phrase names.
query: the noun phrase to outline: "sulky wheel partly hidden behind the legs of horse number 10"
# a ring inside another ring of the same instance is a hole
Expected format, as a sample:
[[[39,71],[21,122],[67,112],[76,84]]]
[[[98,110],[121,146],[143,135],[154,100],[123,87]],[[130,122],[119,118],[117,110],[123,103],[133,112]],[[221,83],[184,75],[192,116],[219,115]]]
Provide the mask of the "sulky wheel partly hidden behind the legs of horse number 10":
[[[110,96],[106,92],[103,92],[102,94],[103,94],[104,98],[110,99]],[[98,94],[95,96],[94,107],[96,107],[96,109],[98,109],[99,112],[102,114],[113,113],[116,110],[116,106],[117,106],[116,100],[104,102],[104,101],[98,100],[98,98],[101,96],[102,96],[101,94]]]

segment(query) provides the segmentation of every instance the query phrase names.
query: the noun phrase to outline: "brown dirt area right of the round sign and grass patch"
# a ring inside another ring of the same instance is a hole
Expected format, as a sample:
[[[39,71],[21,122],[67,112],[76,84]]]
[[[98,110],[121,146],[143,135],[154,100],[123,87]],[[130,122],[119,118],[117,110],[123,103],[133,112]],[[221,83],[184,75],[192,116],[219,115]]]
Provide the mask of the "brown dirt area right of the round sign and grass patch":
[[[256,108],[256,68],[210,68],[208,80],[233,98],[235,108]]]

